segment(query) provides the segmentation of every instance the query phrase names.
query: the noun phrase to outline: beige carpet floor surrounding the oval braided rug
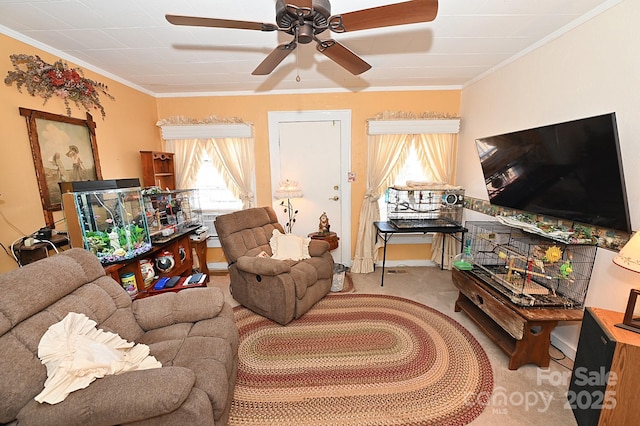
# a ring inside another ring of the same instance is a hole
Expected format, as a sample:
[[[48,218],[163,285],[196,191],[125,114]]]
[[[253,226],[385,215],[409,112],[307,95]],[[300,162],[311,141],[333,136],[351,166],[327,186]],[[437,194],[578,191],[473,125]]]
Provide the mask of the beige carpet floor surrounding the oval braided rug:
[[[389,273],[389,269],[394,272]],[[573,413],[565,408],[571,360],[552,361],[548,371],[534,365],[509,370],[507,356],[464,313],[454,312],[458,292],[450,271],[437,267],[387,268],[384,287],[380,287],[379,268],[371,274],[350,276],[356,293],[389,294],[423,303],[458,321],[480,342],[493,367],[494,392],[472,425],[576,425]],[[212,274],[211,278],[209,285],[220,287],[229,303],[237,305],[229,294],[228,275]],[[562,353],[551,348],[551,356],[562,358]],[[552,382],[563,384],[553,386]]]

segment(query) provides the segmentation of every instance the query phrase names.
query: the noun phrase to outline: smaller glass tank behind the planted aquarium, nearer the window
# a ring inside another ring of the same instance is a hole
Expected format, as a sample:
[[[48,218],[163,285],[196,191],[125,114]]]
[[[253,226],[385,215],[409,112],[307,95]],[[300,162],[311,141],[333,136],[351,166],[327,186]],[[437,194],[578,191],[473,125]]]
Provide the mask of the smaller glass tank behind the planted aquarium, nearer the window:
[[[162,243],[176,233],[202,226],[202,209],[196,189],[142,190],[149,233],[154,243]]]

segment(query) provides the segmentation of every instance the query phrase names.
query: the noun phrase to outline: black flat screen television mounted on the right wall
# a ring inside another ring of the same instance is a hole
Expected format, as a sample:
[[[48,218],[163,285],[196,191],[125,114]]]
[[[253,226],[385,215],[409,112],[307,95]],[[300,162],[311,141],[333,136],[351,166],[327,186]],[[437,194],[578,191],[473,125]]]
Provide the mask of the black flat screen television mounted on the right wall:
[[[492,205],[631,232],[615,113],[476,140]]]

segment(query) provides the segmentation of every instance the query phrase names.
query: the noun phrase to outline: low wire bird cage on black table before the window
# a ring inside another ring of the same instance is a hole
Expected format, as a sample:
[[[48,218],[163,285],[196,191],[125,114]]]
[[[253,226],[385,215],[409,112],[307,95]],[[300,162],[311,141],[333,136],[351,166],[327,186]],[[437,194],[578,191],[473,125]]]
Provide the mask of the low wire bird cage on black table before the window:
[[[392,221],[462,223],[464,189],[390,187],[385,201],[387,218]]]

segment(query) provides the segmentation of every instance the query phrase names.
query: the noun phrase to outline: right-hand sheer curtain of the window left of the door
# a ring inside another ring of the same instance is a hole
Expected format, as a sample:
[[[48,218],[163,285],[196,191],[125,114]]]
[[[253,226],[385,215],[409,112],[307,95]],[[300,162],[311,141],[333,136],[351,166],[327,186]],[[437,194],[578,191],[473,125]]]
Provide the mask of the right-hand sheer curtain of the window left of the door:
[[[207,151],[227,187],[242,201],[242,208],[254,207],[252,184],[256,166],[253,138],[210,139]]]

